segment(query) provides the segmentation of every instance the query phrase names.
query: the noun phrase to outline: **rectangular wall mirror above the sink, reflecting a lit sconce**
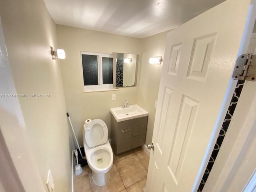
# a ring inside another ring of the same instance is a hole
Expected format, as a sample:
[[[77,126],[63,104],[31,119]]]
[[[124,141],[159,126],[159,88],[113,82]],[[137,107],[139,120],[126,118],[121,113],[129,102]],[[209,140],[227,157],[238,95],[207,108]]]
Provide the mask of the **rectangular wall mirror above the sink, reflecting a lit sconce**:
[[[137,54],[113,53],[113,86],[136,86],[138,70]]]

